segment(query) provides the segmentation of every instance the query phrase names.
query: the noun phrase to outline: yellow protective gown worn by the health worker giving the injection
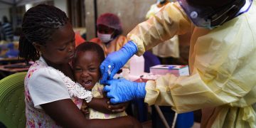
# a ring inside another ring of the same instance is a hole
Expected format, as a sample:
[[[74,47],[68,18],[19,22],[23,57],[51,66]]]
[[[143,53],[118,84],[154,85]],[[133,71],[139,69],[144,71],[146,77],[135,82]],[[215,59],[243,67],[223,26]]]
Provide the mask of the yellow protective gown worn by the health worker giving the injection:
[[[201,127],[256,127],[256,1],[247,13],[213,30],[191,26],[178,3],[167,4],[128,34],[142,55],[176,34],[193,31],[190,76],[146,82],[145,102],[178,113],[203,109]]]

